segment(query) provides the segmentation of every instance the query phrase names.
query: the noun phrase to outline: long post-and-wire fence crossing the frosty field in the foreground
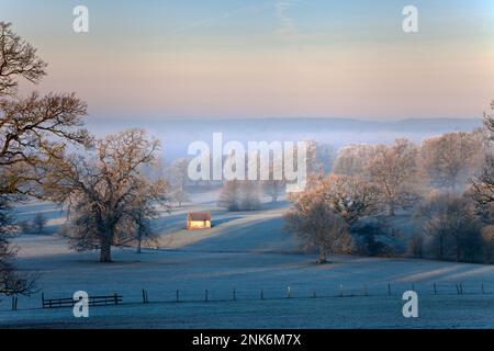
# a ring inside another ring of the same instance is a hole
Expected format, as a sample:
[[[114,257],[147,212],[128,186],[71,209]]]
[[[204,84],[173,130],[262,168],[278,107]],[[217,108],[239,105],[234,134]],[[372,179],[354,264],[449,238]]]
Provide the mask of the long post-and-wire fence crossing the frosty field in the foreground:
[[[414,291],[419,296],[434,296],[434,295],[494,295],[494,283],[388,283],[383,285],[361,285],[356,286],[340,283],[336,288],[326,287],[307,287],[288,285],[280,288],[178,288],[178,290],[167,290],[166,292],[157,290],[142,288],[137,290],[125,290],[125,293],[111,292],[111,296],[120,296],[119,306],[128,304],[155,304],[155,303],[169,303],[169,304],[182,304],[182,303],[212,303],[212,302],[236,302],[236,301],[263,301],[263,299],[302,299],[302,298],[352,298],[352,297],[385,297],[385,296],[401,296],[405,291]],[[57,294],[58,295],[58,294]],[[89,294],[96,296],[97,294]],[[50,308],[49,305],[44,303],[46,298],[53,299],[70,299],[70,294],[60,294],[58,296],[47,296],[47,294],[42,293],[38,303],[35,298],[37,296],[26,297],[24,301],[29,302],[25,306],[19,303],[19,296],[12,296],[9,301],[5,298],[2,304],[0,304],[2,312],[7,310],[29,310],[29,309],[40,309],[40,308]],[[10,305],[10,306],[9,306]],[[58,306],[53,304],[53,306]],[[72,305],[68,304],[65,307],[70,307]],[[9,308],[10,307],[10,308]],[[59,307],[59,306],[58,306]]]

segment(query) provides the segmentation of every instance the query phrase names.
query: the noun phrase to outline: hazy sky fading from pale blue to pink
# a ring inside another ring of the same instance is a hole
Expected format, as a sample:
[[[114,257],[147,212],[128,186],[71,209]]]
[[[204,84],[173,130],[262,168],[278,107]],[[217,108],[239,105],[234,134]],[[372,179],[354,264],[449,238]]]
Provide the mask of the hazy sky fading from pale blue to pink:
[[[49,63],[36,89],[96,116],[479,117],[494,99],[493,0],[0,0],[0,20]]]

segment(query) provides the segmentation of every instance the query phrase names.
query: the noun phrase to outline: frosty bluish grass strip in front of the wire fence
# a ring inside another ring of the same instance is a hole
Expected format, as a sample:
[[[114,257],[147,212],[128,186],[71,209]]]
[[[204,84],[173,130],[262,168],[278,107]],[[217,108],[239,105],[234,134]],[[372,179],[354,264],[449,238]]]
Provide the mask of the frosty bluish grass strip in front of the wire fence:
[[[494,297],[424,296],[404,318],[398,296],[210,303],[150,303],[90,309],[0,313],[3,328],[492,328]]]

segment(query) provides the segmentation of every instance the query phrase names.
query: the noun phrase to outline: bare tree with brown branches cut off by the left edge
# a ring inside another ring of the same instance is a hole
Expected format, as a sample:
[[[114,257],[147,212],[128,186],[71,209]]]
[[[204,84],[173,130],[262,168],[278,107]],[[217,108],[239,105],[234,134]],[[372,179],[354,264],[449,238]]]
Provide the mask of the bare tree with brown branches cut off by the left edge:
[[[9,23],[0,22],[0,196],[3,210],[21,194],[42,196],[40,184],[52,161],[63,156],[69,143],[89,145],[82,126],[86,103],[74,93],[45,97],[18,94],[21,80],[38,83],[46,63],[36,49]],[[4,217],[7,218],[7,217]],[[0,223],[0,293],[25,294],[34,286],[33,276],[15,272],[9,245],[11,225]]]

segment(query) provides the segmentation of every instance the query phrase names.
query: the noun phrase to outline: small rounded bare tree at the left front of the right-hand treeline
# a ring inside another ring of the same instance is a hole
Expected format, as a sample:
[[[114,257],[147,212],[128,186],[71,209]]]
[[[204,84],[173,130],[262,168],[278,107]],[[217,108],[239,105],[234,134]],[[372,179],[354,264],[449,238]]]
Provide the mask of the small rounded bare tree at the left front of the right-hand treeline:
[[[285,229],[293,233],[305,248],[318,249],[318,263],[327,253],[349,253],[352,240],[345,219],[335,213],[317,190],[292,194],[291,208],[284,215]]]

